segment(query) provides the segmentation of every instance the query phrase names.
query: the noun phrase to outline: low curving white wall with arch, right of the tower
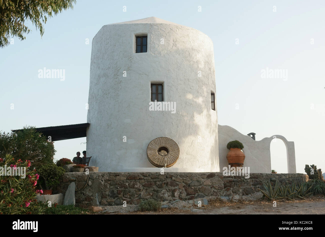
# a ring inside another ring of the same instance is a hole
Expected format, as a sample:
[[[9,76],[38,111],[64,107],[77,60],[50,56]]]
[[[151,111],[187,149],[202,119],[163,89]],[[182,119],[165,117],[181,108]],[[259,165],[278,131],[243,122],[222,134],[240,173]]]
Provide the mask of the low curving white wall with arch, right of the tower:
[[[244,166],[250,167],[251,173],[271,173],[270,145],[273,139],[279,138],[283,141],[287,149],[288,173],[296,173],[294,142],[287,141],[281,135],[273,135],[263,138],[260,141],[255,141],[250,136],[241,134],[230,126],[218,125],[218,136],[220,172],[223,171],[223,167],[228,166],[226,158],[228,153],[227,143],[238,140],[244,145]]]

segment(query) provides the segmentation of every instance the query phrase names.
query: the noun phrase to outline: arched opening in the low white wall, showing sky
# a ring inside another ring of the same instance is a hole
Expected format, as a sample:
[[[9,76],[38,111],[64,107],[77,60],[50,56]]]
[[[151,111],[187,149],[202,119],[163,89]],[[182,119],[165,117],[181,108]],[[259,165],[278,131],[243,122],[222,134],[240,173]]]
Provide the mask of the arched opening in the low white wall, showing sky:
[[[284,142],[279,138],[274,138],[270,144],[271,169],[278,174],[288,173],[287,148]],[[271,172],[271,171],[270,171]]]

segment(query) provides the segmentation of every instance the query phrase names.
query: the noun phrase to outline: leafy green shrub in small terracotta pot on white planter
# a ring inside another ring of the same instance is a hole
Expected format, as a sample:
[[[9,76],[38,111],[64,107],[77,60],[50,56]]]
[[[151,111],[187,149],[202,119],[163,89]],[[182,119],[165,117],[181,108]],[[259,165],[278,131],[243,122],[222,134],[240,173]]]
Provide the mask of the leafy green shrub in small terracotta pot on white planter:
[[[49,163],[37,168],[37,173],[40,175],[38,185],[43,189],[43,195],[51,195],[52,189],[60,184],[59,177],[65,173],[65,170],[55,163]]]

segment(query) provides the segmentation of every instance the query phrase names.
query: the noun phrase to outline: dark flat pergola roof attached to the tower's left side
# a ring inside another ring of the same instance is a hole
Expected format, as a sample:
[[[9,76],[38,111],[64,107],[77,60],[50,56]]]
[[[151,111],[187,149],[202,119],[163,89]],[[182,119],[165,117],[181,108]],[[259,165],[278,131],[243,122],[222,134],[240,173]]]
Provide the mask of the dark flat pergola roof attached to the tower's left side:
[[[52,126],[36,128],[37,132],[42,132],[45,137],[51,136],[52,142],[73,138],[86,137],[87,127],[90,123],[79,123],[71,125]],[[21,129],[12,130],[18,132]]]

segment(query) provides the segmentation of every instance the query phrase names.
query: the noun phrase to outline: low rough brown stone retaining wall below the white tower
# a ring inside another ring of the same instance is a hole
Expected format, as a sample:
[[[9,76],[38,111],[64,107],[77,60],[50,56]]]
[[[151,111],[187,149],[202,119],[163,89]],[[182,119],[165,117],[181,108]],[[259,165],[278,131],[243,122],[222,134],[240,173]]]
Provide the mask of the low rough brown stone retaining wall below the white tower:
[[[89,180],[87,185],[86,181]],[[225,196],[241,199],[264,189],[263,182],[278,180],[308,181],[306,174],[250,174],[244,176],[224,176],[222,173],[113,173],[89,172],[65,173],[56,190],[64,194],[70,184],[69,178],[76,178],[76,206],[138,204],[141,199],[153,198],[157,201],[190,200],[209,196]]]

